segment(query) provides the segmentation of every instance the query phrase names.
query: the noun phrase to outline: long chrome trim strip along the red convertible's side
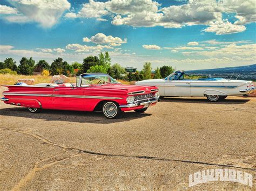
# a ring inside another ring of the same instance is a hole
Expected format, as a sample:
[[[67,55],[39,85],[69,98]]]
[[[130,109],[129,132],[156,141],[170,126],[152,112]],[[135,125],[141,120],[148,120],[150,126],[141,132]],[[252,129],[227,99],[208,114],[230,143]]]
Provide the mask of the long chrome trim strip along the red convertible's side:
[[[61,95],[61,94],[19,94],[19,93],[4,93],[3,95],[16,95],[16,96],[39,96],[39,97],[70,97],[70,98],[93,98],[93,99],[110,99],[122,100],[122,97],[109,97],[109,96],[79,96],[79,95]]]

